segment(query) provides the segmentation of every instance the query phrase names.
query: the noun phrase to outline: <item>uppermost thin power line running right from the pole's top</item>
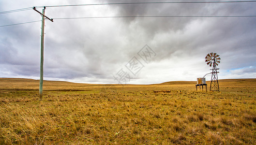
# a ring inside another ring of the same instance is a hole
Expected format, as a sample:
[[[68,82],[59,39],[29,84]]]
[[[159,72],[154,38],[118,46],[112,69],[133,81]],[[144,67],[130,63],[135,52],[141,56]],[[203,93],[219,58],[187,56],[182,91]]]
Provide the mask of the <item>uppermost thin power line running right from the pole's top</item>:
[[[238,3],[238,2],[256,2],[256,0],[246,0],[246,1],[182,1],[182,2],[121,2],[121,3],[94,3],[94,4],[51,5],[51,6],[45,6],[45,7],[68,7],[68,6],[90,6],[90,5],[117,5],[117,4]]]

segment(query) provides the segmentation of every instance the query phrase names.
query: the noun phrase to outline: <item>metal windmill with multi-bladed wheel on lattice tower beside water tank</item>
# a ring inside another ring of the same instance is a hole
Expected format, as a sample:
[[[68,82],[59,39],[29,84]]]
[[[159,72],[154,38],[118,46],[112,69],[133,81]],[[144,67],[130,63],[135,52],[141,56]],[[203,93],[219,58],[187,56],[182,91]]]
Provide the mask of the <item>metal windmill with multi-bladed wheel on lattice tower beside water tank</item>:
[[[211,91],[219,91],[220,92],[218,75],[217,75],[217,73],[219,73],[219,72],[217,72],[217,70],[219,70],[219,69],[216,68],[219,65],[219,63],[221,63],[220,60],[221,60],[220,56],[213,52],[209,53],[205,57],[205,62],[207,63],[207,65],[209,65],[210,67],[212,66],[211,86],[210,86]]]

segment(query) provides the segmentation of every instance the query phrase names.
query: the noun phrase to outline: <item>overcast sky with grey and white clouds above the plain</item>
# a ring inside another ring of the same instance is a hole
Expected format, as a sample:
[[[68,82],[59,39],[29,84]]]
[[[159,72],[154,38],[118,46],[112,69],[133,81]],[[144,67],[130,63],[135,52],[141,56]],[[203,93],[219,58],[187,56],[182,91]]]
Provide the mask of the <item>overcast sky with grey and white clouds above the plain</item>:
[[[42,12],[39,7],[46,6],[45,15],[54,22],[45,21],[45,80],[104,84],[196,81],[211,72],[204,59],[210,52],[220,55],[219,79],[256,78],[256,17],[110,18],[255,16],[256,2],[47,7],[116,2],[153,1],[0,0],[0,12],[33,6]],[[74,17],[108,18],[59,19]],[[41,19],[32,9],[0,14],[0,26]],[[0,77],[40,78],[40,35],[40,21],[0,27]]]

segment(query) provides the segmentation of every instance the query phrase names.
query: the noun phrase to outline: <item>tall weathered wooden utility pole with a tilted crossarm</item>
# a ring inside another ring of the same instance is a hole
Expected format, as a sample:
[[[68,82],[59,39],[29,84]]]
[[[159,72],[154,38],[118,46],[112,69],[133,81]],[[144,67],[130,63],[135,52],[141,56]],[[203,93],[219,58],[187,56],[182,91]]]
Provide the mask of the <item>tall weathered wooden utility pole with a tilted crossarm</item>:
[[[44,74],[44,36],[45,36],[45,17],[53,22],[53,19],[45,16],[45,7],[43,9],[43,13],[40,13],[33,7],[33,10],[41,14],[42,16],[42,32],[41,32],[41,62],[40,62],[40,85],[39,85],[39,98],[40,101],[43,100],[43,74]]]

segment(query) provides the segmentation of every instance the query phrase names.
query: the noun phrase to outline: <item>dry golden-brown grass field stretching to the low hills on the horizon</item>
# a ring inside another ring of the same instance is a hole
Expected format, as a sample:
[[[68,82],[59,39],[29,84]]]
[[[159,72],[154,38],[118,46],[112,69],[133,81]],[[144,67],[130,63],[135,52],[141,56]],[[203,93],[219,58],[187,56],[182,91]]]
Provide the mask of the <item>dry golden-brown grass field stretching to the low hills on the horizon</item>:
[[[44,81],[39,101],[38,80],[0,78],[0,145],[256,144],[256,79],[195,85]]]

